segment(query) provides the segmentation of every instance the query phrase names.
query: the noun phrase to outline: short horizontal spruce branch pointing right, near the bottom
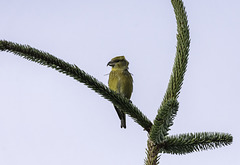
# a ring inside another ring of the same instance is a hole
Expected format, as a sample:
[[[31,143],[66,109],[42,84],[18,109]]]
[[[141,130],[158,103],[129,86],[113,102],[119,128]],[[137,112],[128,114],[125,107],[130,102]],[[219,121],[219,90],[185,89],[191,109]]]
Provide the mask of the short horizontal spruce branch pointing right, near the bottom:
[[[160,153],[188,154],[196,151],[215,149],[230,145],[233,141],[232,135],[218,132],[187,133],[166,137],[159,144]]]

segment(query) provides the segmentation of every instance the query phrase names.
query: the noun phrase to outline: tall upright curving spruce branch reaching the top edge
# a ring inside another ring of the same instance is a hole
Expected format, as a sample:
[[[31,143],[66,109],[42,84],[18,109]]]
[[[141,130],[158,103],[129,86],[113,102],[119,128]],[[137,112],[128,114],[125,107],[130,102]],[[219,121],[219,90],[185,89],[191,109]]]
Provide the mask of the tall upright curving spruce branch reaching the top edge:
[[[171,0],[177,20],[177,50],[172,74],[162,105],[170,98],[178,98],[187,69],[190,36],[187,13],[181,0]]]

